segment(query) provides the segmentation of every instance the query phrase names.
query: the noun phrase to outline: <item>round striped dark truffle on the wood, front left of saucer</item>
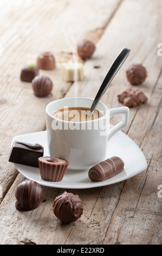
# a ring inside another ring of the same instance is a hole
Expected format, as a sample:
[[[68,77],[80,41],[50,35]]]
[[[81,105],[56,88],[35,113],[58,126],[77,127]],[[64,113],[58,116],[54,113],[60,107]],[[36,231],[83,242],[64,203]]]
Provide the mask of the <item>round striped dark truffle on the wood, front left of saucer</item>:
[[[17,199],[15,207],[19,211],[31,211],[36,209],[43,198],[43,189],[36,181],[26,180],[18,185],[15,192]]]

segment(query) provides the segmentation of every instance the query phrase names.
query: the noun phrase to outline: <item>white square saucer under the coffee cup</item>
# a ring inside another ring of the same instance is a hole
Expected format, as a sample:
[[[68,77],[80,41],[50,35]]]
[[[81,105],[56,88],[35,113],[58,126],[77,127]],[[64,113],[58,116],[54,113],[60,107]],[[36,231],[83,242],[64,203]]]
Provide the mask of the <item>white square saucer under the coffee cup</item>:
[[[16,136],[12,139],[12,143],[14,141],[41,144],[44,147],[44,156],[49,156],[47,131]],[[122,131],[117,132],[107,144],[107,159],[112,156],[121,157],[125,163],[124,170],[121,173],[114,175],[112,178],[101,182],[91,181],[88,177],[88,170],[75,172],[68,169],[61,181],[46,181],[41,179],[39,168],[17,163],[14,164],[18,172],[25,176],[25,178],[34,180],[43,186],[58,188],[92,188],[107,186],[131,178],[147,168],[146,158],[141,149]]]

